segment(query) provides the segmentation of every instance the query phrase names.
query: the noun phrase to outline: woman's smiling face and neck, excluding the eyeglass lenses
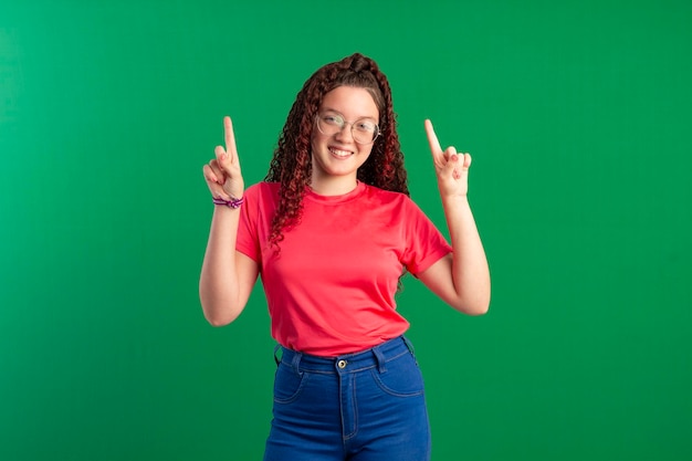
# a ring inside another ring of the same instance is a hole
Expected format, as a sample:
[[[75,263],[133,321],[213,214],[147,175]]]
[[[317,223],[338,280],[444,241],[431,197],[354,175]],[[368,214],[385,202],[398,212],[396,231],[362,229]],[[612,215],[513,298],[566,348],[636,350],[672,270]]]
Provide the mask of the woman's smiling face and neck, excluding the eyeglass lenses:
[[[329,135],[322,133],[315,122],[311,139],[311,187],[323,195],[346,193],[356,186],[358,168],[373,150],[373,143],[356,143],[352,124],[364,121],[377,124],[379,111],[367,90],[338,86],[324,96],[318,114],[340,116],[346,123],[340,130],[333,129],[335,133]]]

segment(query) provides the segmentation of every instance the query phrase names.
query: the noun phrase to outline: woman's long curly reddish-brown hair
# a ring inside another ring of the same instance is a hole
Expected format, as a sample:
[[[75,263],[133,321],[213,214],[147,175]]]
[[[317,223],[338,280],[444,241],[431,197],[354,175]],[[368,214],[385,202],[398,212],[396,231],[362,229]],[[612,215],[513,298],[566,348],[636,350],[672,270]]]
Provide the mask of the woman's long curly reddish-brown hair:
[[[283,232],[301,221],[303,197],[312,175],[311,136],[315,116],[324,96],[338,86],[367,90],[380,114],[381,134],[375,140],[370,156],[358,169],[358,180],[409,195],[387,76],[371,59],[360,53],[352,54],[318,69],[305,82],[289,112],[264,178],[280,184],[279,207],[270,234],[270,242],[275,247],[283,240]]]

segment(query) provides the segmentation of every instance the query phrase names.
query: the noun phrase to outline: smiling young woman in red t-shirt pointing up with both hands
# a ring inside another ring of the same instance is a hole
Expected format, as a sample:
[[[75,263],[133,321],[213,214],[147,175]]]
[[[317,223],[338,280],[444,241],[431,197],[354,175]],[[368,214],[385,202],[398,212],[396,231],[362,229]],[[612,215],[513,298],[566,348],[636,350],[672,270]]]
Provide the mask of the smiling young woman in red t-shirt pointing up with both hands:
[[[395,294],[410,272],[483,314],[490,274],[466,198],[469,154],[426,132],[450,242],[409,198],[391,91],[370,59],[317,70],[264,181],[245,189],[231,119],[203,167],[214,207],[200,277],[212,325],[259,275],[281,348],[265,460],[428,460],[423,383]],[[450,244],[451,243],[451,244]]]

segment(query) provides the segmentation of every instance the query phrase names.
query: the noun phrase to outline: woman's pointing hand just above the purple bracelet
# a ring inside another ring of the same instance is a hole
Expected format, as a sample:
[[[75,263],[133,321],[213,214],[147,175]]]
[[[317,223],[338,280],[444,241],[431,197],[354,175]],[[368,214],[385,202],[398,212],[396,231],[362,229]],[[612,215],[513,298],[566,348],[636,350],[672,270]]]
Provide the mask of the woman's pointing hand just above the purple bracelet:
[[[214,148],[217,158],[205,165],[202,170],[209,191],[211,191],[214,198],[223,200],[239,199],[243,196],[244,185],[240,171],[238,149],[235,149],[235,136],[233,135],[231,117],[223,117],[223,134],[226,148],[217,146]]]

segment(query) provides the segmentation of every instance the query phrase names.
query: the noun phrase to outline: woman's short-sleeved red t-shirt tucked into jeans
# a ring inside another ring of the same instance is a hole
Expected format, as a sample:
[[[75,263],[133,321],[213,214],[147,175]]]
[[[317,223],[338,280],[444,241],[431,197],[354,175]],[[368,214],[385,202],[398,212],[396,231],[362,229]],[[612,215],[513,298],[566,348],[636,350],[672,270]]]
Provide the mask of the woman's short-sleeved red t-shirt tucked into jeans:
[[[244,197],[237,249],[260,265],[272,336],[293,350],[333,357],[403,334],[395,301],[403,269],[416,275],[452,251],[409,197],[358,182],[336,197],[308,189],[276,253],[269,235],[279,184]]]

